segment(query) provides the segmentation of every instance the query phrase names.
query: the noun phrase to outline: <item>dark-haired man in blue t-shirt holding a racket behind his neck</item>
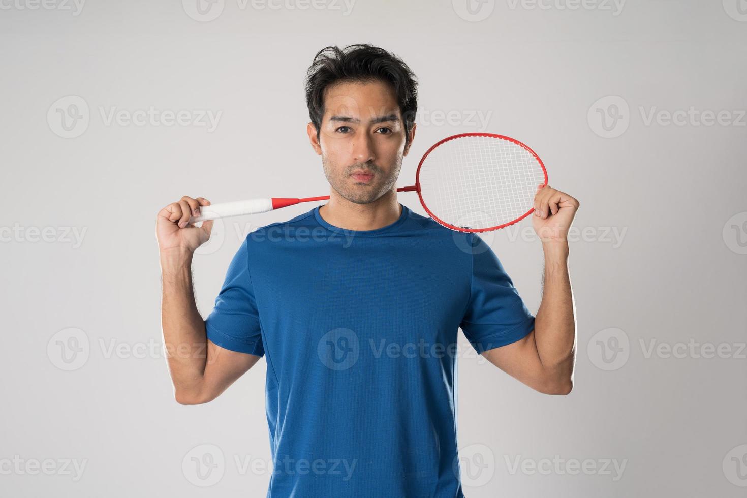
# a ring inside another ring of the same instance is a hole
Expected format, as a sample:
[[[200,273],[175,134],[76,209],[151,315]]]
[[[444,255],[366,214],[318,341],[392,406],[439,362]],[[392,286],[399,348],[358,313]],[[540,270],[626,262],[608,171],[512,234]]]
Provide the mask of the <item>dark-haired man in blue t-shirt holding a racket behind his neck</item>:
[[[382,49],[317,54],[307,131],[329,202],[249,234],[207,320],[196,309],[190,265],[212,223],[188,220],[209,202],[185,196],[158,214],[176,401],[209,402],[266,358],[268,497],[462,497],[459,328],[524,384],[571,391],[566,234],[578,202],[551,187],[536,194],[545,284],[535,317],[477,234],[450,231],[397,201],[416,94],[408,66]]]

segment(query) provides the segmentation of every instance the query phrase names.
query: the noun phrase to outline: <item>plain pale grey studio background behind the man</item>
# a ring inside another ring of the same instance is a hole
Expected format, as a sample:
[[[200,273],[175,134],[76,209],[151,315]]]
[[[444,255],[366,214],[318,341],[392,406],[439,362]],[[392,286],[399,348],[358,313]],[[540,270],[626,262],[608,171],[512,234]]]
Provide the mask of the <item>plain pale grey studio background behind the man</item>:
[[[400,186],[437,140],[492,131],[581,202],[574,391],[459,358],[465,494],[744,496],[745,1],[0,0],[0,40],[0,495],[265,496],[264,361],[173,399],[155,214],[328,193],[303,77],[374,43],[420,81]],[[216,225],[203,316],[245,234],[311,207]],[[530,223],[486,239],[536,311]]]

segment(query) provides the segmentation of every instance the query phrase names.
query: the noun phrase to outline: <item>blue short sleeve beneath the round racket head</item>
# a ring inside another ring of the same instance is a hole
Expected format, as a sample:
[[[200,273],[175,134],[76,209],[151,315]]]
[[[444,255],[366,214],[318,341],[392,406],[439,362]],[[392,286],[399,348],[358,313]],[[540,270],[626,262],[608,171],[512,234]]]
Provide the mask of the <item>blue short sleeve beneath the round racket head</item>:
[[[534,329],[534,316],[495,252],[477,234],[471,235],[471,294],[459,327],[482,353],[526,337]]]

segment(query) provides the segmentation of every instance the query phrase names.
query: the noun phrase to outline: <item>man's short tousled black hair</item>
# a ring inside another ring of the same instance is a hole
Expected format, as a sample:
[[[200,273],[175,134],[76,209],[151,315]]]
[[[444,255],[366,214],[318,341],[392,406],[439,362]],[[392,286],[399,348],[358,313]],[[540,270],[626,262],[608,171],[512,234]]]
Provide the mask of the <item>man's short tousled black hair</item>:
[[[405,124],[405,144],[418,112],[418,80],[399,57],[370,43],[344,49],[328,46],[317,52],[306,72],[306,106],[317,127],[317,140],[324,116],[324,92],[338,83],[382,81],[394,90]]]

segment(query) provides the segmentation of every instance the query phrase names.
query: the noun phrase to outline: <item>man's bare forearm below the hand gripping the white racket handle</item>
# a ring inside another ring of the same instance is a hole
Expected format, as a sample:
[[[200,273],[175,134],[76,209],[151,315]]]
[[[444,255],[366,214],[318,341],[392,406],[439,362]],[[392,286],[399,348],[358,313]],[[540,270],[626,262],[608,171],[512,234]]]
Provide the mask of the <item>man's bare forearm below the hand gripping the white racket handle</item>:
[[[192,254],[161,253],[161,327],[176,396],[199,391],[208,355],[205,320],[192,289]]]

